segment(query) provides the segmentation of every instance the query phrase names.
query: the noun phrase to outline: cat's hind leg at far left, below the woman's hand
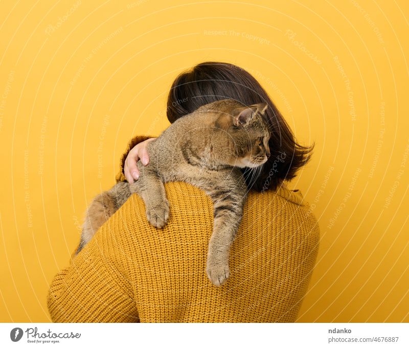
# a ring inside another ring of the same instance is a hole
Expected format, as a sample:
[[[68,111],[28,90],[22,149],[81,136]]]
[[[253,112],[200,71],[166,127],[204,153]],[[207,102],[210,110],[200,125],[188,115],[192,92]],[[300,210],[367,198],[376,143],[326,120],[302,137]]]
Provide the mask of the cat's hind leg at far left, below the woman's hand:
[[[115,201],[109,192],[102,192],[94,198],[85,213],[77,254],[116,210]]]

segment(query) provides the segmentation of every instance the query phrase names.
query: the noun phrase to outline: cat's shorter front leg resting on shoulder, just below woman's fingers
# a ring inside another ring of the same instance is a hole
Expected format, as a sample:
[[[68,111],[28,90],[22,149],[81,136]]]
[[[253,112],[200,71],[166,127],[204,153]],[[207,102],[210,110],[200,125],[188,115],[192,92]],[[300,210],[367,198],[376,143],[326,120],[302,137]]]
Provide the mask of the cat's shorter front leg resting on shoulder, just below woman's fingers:
[[[142,165],[138,166],[141,175],[138,181],[131,184],[131,191],[138,193],[145,202],[148,222],[157,228],[162,228],[169,219],[169,202],[166,198],[165,186],[154,170]]]

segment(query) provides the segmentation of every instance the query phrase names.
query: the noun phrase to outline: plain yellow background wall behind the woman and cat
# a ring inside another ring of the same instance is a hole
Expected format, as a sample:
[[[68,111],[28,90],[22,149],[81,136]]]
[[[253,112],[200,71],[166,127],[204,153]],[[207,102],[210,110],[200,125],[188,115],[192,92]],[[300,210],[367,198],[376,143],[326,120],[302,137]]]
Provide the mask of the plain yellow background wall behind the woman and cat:
[[[409,321],[408,10],[404,0],[1,2],[0,320],[50,320],[48,285],[87,203],[113,185],[132,136],[168,126],[176,75],[217,60],[252,72],[300,142],[316,143],[289,185],[322,233],[299,321]]]

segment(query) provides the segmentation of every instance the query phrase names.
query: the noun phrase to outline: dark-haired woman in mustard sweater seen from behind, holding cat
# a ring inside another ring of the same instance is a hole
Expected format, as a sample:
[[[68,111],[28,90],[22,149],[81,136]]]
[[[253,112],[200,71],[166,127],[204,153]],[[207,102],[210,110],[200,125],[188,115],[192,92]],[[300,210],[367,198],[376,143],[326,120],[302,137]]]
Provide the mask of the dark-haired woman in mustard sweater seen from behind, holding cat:
[[[53,321],[274,322],[294,321],[315,263],[319,227],[294,178],[312,147],[299,145],[256,79],[232,64],[206,62],[179,75],[167,102],[172,123],[197,107],[232,98],[268,104],[270,157],[260,176],[243,169],[251,188],[230,253],[231,275],[215,287],[206,275],[213,207],[200,189],[165,184],[171,212],[157,230],[133,195],[100,228],[71,265],[54,278],[48,296]],[[117,181],[138,179],[136,161],[149,161],[150,137],[133,138]]]

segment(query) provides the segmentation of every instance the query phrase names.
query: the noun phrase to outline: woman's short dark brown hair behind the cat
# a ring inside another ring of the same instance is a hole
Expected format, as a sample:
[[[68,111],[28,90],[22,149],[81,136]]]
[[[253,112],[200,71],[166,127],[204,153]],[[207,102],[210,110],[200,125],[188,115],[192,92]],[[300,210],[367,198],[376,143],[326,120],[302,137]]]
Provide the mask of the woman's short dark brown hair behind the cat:
[[[268,104],[265,114],[270,123],[268,145],[271,155],[258,177],[254,178],[254,172],[248,168],[242,170],[247,185],[257,191],[274,190],[283,180],[293,179],[310,160],[314,145],[297,143],[284,117],[260,83],[234,64],[204,62],[177,76],[168,96],[168,120],[173,123],[201,105],[226,98],[244,105]]]

